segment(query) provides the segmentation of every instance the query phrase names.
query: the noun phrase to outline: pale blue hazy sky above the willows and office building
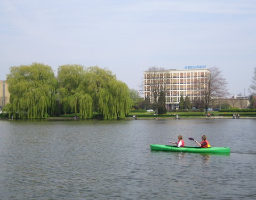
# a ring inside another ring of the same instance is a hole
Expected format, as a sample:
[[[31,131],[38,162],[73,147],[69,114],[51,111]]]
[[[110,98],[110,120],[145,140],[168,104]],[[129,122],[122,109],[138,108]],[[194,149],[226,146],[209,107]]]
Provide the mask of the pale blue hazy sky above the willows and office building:
[[[249,95],[255,0],[0,0],[0,80],[33,62],[107,68],[141,90],[149,67],[218,67],[230,95]]]

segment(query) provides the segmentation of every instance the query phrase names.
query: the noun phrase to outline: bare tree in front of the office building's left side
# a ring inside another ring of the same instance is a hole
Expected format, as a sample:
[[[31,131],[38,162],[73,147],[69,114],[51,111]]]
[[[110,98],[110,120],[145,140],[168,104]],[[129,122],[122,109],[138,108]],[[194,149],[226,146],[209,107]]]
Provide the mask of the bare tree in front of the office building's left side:
[[[153,102],[153,105],[156,109],[156,114],[158,113],[158,98],[160,95],[160,92],[166,91],[166,78],[165,78],[165,71],[164,68],[158,68],[158,67],[150,67],[146,71],[147,74],[145,74],[146,81],[144,81],[144,90],[150,91],[150,99],[151,102]],[[163,71],[163,73],[161,73]],[[144,79],[145,80],[145,79]],[[146,94],[144,98],[148,97]]]

